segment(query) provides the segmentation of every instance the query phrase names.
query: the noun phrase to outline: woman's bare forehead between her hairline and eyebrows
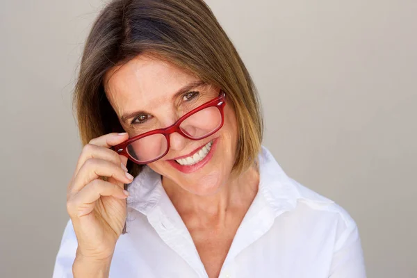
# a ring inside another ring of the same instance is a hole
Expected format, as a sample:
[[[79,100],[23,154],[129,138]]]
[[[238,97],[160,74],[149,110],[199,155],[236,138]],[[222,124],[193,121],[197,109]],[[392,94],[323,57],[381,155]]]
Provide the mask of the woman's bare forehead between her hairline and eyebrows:
[[[197,77],[172,63],[139,55],[113,67],[104,76],[106,95],[117,115],[137,108],[155,108],[171,99],[179,88]]]

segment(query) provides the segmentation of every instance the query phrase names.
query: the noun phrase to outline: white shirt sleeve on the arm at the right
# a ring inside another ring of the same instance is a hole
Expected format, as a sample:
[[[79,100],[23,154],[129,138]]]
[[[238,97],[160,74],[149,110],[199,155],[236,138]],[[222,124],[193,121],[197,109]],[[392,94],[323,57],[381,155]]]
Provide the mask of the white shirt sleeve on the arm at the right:
[[[359,231],[352,219],[336,240],[329,278],[366,278]]]

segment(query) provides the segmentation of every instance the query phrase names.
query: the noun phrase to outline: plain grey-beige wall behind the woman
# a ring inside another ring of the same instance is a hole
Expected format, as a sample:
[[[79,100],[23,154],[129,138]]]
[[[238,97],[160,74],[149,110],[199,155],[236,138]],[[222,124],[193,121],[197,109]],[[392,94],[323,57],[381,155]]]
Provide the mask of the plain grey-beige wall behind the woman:
[[[209,0],[261,94],[264,145],[356,220],[368,277],[416,277],[417,1]],[[51,277],[81,146],[93,0],[0,1],[0,277]]]

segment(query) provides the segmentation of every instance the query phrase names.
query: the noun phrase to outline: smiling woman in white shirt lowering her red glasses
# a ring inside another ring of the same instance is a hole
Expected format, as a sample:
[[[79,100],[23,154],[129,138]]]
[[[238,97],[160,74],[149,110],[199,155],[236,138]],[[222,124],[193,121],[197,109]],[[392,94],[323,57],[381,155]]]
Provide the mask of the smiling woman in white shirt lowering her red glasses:
[[[203,1],[109,3],[74,104],[54,277],[365,277],[354,220],[261,147],[254,84]]]

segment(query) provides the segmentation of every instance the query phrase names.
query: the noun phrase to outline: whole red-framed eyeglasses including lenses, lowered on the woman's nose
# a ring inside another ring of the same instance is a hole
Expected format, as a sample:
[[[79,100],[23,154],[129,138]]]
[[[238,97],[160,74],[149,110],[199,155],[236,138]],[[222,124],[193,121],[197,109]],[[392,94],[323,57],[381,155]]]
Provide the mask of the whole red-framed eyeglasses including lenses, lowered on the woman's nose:
[[[113,149],[134,163],[147,164],[167,154],[170,149],[171,133],[177,132],[191,140],[201,140],[211,136],[223,126],[225,97],[226,94],[220,90],[218,97],[211,101],[199,104],[197,100],[192,110],[171,126],[139,134],[116,145]]]

